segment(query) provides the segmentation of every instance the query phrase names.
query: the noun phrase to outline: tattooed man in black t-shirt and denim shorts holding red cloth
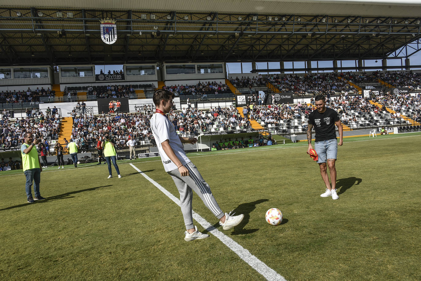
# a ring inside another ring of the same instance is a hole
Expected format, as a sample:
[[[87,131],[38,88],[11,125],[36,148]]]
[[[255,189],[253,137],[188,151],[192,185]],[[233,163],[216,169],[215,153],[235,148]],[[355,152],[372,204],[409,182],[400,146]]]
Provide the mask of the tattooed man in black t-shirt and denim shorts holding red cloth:
[[[320,174],[326,184],[326,192],[321,194],[321,197],[332,196],[333,200],[339,198],[336,194],[336,168],[335,161],[338,153],[338,142],[336,140],[335,124],[338,126],[339,145],[342,145],[342,124],[338,112],[331,108],[327,108],[325,104],[325,97],[317,95],[314,99],[317,110],[313,110],[309,115],[309,126],[307,129],[307,140],[309,147],[307,153],[310,154],[312,147],[312,128],[316,131],[314,140],[314,150],[318,155],[317,163],[320,166]],[[328,163],[330,171],[330,185],[327,173],[326,162]]]

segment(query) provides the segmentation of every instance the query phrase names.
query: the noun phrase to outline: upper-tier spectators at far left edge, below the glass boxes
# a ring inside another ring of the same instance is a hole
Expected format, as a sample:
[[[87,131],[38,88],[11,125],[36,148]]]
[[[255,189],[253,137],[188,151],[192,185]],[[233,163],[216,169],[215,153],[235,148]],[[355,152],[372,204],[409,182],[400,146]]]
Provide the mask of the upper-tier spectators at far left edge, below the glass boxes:
[[[50,99],[53,99],[55,95],[54,91],[48,87],[46,90],[41,87],[37,87],[35,90],[28,87],[26,91],[2,91],[0,93],[0,103],[14,103],[14,102],[39,102],[40,97],[48,96]]]

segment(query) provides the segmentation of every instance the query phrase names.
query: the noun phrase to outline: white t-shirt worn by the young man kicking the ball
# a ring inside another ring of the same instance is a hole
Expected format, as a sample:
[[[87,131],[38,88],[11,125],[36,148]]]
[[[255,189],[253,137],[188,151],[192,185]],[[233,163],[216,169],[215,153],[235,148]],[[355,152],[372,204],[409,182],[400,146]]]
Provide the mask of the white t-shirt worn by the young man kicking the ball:
[[[176,164],[171,161],[171,159],[165,154],[165,151],[162,148],[161,144],[167,139],[170,141],[170,146],[176,154],[177,158],[179,158],[181,164],[185,165],[190,163],[191,161],[189,158],[187,158],[187,155],[184,152],[183,144],[181,143],[181,140],[176,133],[176,129],[170,120],[168,120],[168,118],[160,113],[155,113],[152,115],[150,121],[152,134],[154,135],[155,142],[157,143],[158,151],[161,155],[161,160],[165,171],[168,172],[177,169]]]

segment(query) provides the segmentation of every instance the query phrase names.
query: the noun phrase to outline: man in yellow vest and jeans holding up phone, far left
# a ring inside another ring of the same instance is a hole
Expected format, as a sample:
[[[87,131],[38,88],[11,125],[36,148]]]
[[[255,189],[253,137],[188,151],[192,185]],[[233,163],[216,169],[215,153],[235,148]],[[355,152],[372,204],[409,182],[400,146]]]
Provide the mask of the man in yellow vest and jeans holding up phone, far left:
[[[34,139],[32,133],[26,133],[24,135],[24,144],[21,146],[22,154],[22,166],[24,170],[26,181],[26,193],[28,203],[34,203],[37,200],[43,200],[44,197],[40,194],[40,181],[41,181],[41,162],[38,156],[38,151],[35,145],[40,143],[40,139]],[[32,197],[31,189],[32,182],[34,182],[34,193],[35,197]]]

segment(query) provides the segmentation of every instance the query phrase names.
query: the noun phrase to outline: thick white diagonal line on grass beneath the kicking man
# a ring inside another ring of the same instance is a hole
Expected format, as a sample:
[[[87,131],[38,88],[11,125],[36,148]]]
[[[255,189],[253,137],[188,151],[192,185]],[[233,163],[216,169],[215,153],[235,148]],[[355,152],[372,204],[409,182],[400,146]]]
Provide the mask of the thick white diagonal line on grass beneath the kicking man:
[[[164,187],[162,187],[159,183],[155,182],[153,179],[148,177],[145,173],[143,173],[141,170],[137,169],[136,166],[134,166],[132,163],[130,165],[138,171],[142,176],[145,177],[145,179],[149,180],[153,185],[155,185],[159,190],[161,190],[165,195],[168,196],[174,203],[180,206],[180,200],[176,198],[174,195],[172,195],[168,190],[166,190]],[[229,249],[231,249],[235,254],[237,254],[242,260],[247,262],[254,270],[256,270],[258,273],[260,273],[266,280],[281,280],[286,281],[286,279],[283,276],[280,276],[279,273],[277,273],[272,268],[269,268],[264,262],[259,260],[257,257],[253,256],[248,252],[247,249],[244,249],[240,244],[226,236],[224,233],[213,227],[208,221],[206,221],[203,217],[201,217],[199,214],[197,214],[195,211],[193,211],[193,218],[203,226],[206,230],[208,230],[210,233],[213,234],[216,238],[221,240],[222,243],[224,243]]]

